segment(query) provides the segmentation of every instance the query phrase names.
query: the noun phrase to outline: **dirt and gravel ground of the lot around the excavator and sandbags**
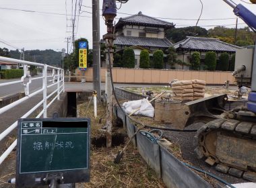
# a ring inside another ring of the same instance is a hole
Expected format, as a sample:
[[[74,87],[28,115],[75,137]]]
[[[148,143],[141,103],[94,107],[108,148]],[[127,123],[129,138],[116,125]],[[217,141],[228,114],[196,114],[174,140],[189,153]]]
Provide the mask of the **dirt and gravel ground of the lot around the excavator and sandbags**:
[[[128,91],[132,91],[138,94],[141,94],[141,88],[124,88]],[[154,93],[154,96],[158,95],[159,93],[164,93],[164,95],[170,95],[172,96],[172,89],[170,87],[149,87],[144,88],[145,91],[152,91]],[[237,87],[230,87],[230,89],[225,89],[224,87],[206,87],[205,89],[205,97],[209,97],[210,95],[219,94],[219,93],[226,93],[228,95],[228,98],[231,100],[236,100],[236,96],[234,93],[237,91]],[[243,95],[243,99],[247,99],[247,94]],[[143,124],[149,124],[154,126],[165,126],[166,128],[172,128],[171,125],[162,125],[161,123],[154,122],[152,118],[144,118],[141,116],[133,116],[138,121],[143,122]],[[201,126],[203,126],[203,123],[197,123],[192,124],[191,126],[188,126],[186,129],[198,129]],[[236,177],[233,177],[231,175],[226,175],[223,173],[219,173],[215,170],[215,167],[211,167],[210,165],[206,164],[202,159],[197,159],[197,156],[194,152],[195,146],[193,146],[193,137],[195,136],[195,132],[170,132],[170,131],[163,131],[163,137],[167,140],[170,140],[170,142],[176,144],[177,146],[180,146],[180,153],[174,154],[179,158],[180,160],[187,161],[193,166],[202,169],[203,171],[207,171],[209,173],[212,173],[228,183],[243,183],[247,182],[244,179],[239,179]],[[223,186],[223,185],[222,185]]]

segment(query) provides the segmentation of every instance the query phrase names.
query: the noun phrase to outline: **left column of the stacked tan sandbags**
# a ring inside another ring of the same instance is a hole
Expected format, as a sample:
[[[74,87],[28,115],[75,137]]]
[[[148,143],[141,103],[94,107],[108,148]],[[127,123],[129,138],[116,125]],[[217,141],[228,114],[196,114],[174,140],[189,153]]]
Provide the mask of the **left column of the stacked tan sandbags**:
[[[176,81],[172,83],[172,91],[174,93],[172,99],[176,101],[193,101],[194,91],[192,81]]]

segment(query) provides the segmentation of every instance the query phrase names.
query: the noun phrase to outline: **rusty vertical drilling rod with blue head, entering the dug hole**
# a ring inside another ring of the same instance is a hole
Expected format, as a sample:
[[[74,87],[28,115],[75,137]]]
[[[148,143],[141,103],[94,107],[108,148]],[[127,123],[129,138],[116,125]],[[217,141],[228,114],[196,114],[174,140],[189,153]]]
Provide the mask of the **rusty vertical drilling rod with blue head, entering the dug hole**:
[[[110,67],[113,64],[113,47],[115,39],[113,20],[117,16],[115,0],[104,0],[102,15],[105,18],[107,34],[103,36],[106,44],[106,146],[112,144],[112,87],[110,79]]]

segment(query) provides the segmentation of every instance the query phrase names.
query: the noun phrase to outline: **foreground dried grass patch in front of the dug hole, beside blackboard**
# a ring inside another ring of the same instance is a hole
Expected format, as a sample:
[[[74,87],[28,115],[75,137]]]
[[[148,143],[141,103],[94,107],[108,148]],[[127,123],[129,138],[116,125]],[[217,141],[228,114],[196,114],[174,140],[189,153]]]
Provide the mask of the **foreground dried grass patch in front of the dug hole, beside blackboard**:
[[[78,183],[77,187],[165,187],[154,171],[149,169],[141,156],[129,146],[120,164],[113,158],[123,146],[93,148],[91,153],[90,183]]]

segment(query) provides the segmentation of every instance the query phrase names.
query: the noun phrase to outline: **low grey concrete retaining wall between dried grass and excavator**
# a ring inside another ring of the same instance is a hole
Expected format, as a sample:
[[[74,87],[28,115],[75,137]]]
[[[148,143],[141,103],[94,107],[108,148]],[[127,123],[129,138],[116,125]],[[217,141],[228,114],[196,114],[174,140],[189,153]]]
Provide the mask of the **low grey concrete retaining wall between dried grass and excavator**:
[[[131,138],[137,127],[128,118],[124,118],[123,111],[119,106],[115,105],[113,111],[118,118],[123,120],[123,124],[127,128],[127,134]],[[212,187],[168,152],[164,146],[152,143],[139,133],[133,138],[133,144],[137,146],[139,154],[156,171],[156,175],[163,179],[167,187]]]

